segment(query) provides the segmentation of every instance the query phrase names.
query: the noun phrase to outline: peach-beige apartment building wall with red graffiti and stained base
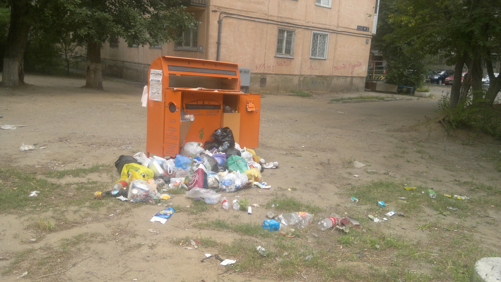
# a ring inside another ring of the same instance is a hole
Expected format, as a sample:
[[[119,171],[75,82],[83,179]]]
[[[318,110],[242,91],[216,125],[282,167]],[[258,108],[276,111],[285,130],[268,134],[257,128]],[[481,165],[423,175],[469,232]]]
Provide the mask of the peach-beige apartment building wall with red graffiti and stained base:
[[[251,70],[250,92],[302,89],[336,91],[364,89],[375,0],[332,1],[331,8],[315,0],[207,0],[207,7],[188,6],[201,23],[201,50],[105,46],[106,75],[147,80],[149,64],[160,56],[236,62]],[[196,10],[193,10],[196,9]],[[294,56],[276,54],[279,28],[295,31]],[[326,59],[310,58],[312,33],[328,34]],[[199,52],[201,51],[201,52]]]

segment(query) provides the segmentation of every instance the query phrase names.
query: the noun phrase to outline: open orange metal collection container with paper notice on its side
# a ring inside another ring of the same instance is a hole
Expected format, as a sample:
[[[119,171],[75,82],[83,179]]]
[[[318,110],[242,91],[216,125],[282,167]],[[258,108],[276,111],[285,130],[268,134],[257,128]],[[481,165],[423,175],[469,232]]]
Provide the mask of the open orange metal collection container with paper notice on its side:
[[[148,74],[146,154],[175,157],[186,142],[212,141],[226,126],[240,147],[257,148],[260,106],[261,95],[240,91],[238,64],[158,57]]]

